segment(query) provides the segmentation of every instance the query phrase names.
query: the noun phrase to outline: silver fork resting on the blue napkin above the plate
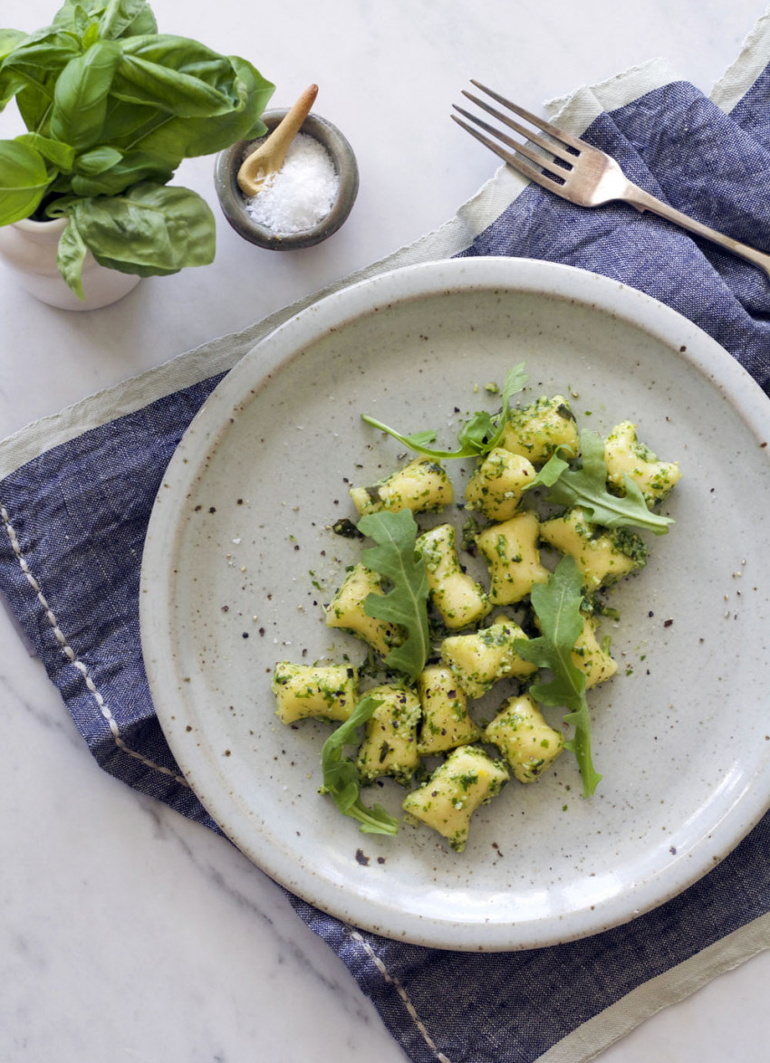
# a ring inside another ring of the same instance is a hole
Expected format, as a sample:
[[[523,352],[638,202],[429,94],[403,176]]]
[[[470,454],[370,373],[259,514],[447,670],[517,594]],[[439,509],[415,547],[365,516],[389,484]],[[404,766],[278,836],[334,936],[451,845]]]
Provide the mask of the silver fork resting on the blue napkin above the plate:
[[[492,107],[485,100],[465,91],[465,89],[463,90],[463,96],[467,97],[476,106],[515,133],[526,137],[532,145],[536,145],[541,149],[540,152],[535,151],[530,147],[530,144],[523,144],[520,140],[514,139],[502,130],[490,125],[476,115],[454,104],[454,109],[470,122],[473,122],[479,129],[469,125],[468,122],[463,121],[462,118],[457,118],[456,115],[452,115],[452,118],[464,130],[467,130],[471,136],[474,136],[476,140],[481,140],[496,155],[504,159],[508,166],[518,170],[519,173],[530,181],[534,181],[535,184],[547,188],[556,196],[560,196],[562,199],[569,200],[570,203],[577,204],[577,206],[601,206],[604,203],[620,200],[635,206],[637,210],[651,210],[667,221],[671,221],[673,224],[680,225],[690,233],[694,233],[696,236],[702,236],[714,243],[718,243],[726,251],[732,251],[733,254],[740,255],[741,258],[746,258],[755,266],[758,266],[759,269],[764,270],[770,276],[770,255],[764,254],[761,251],[756,251],[754,248],[750,248],[739,240],[734,240],[731,236],[725,236],[723,233],[718,233],[716,229],[709,229],[708,225],[704,225],[702,222],[696,221],[694,218],[682,214],[681,210],[675,210],[673,207],[668,206],[667,203],[663,203],[659,199],[646,192],[643,188],[629,181],[619,164],[610,155],[600,151],[598,148],[592,148],[585,140],[580,140],[577,137],[565,133],[564,130],[556,129],[555,125],[543,121],[542,118],[537,118],[529,111],[524,111],[523,107],[517,106],[510,100],[506,100],[498,92],[493,92],[492,89],[480,84],[480,82],[471,79],[471,84],[491,97],[492,100],[502,104],[503,107],[512,111],[519,118],[523,118],[524,121],[530,122],[531,125],[536,126],[552,138],[546,139],[539,133],[526,129],[520,122],[516,121],[515,118],[510,118],[508,115]],[[479,132],[480,129],[490,134],[490,136],[485,136],[484,133]],[[495,139],[491,139],[492,137]],[[497,141],[502,141],[502,144],[498,144]],[[507,151],[502,145],[507,145],[513,151]],[[546,152],[546,154],[543,155],[542,152]]]

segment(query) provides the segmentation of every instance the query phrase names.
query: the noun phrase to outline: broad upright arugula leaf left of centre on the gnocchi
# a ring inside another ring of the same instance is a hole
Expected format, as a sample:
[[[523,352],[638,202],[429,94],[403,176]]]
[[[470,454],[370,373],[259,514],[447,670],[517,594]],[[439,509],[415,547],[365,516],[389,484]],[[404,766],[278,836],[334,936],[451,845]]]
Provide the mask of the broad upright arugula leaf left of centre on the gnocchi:
[[[396,513],[383,509],[362,517],[358,529],[378,543],[363,552],[362,561],[392,583],[392,589],[386,594],[369,594],[364,611],[367,617],[387,620],[404,628],[406,638],[390,651],[385,663],[404,672],[414,681],[430,653],[428,575],[422,554],[417,549],[417,522],[411,509]]]

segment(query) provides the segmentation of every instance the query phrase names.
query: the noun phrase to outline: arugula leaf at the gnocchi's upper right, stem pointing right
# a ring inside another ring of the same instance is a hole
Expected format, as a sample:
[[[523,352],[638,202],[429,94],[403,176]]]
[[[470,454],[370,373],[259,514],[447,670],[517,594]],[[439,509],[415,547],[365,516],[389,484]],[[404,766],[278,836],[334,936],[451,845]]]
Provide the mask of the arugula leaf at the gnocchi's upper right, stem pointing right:
[[[528,484],[528,489],[538,485],[550,487],[548,502],[580,506],[587,520],[603,527],[639,527],[655,535],[666,535],[673,520],[648,509],[643,494],[630,476],[624,477],[623,497],[607,491],[607,467],[601,437],[593,432],[581,432],[580,440],[582,468],[570,469],[569,462],[558,453],[553,454]]]

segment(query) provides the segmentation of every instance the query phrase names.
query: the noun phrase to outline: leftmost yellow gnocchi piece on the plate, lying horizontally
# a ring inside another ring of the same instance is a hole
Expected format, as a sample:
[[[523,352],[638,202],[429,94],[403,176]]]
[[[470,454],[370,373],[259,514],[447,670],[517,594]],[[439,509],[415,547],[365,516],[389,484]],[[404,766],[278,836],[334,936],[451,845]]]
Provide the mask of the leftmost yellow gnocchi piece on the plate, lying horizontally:
[[[292,664],[279,661],[271,688],[277,714],[285,724],[316,716],[346,721],[357,701],[358,676],[345,664]]]

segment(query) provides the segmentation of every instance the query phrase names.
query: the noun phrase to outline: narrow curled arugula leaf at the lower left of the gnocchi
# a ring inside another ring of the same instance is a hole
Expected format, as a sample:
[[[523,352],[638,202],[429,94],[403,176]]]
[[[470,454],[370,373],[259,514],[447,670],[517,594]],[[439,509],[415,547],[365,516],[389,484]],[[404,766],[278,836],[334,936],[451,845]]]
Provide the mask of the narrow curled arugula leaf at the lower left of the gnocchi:
[[[371,716],[382,701],[367,695],[362,698],[344,724],[340,724],[323,743],[321,769],[323,784],[320,794],[329,794],[342,813],[359,823],[364,834],[396,834],[399,822],[380,805],[368,808],[361,799],[361,777],[354,760],[342,756],[346,745],[355,742],[355,731]]]

